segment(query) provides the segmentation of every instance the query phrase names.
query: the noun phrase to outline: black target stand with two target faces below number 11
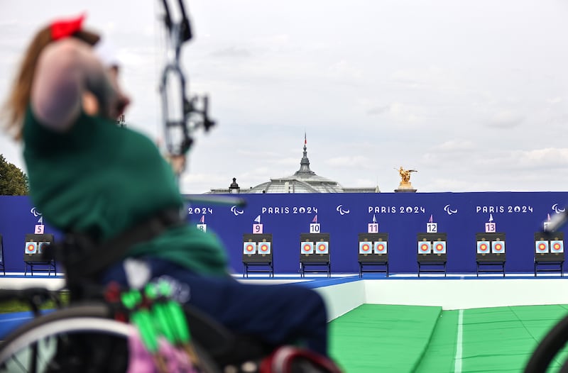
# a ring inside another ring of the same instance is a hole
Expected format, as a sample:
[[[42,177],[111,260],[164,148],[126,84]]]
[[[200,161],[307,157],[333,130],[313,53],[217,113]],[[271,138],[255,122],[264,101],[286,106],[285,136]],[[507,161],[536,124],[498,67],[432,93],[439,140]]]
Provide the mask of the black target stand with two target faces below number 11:
[[[363,272],[384,272],[388,277],[388,233],[359,233],[359,277]],[[371,269],[364,267],[371,266]]]

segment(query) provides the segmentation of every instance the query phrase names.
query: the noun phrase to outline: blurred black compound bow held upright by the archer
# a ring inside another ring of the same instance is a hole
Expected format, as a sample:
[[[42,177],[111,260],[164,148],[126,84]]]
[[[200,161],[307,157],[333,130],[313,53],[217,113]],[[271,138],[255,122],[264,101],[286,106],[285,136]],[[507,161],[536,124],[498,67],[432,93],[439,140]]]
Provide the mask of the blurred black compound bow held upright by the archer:
[[[166,61],[160,82],[162,118],[165,126],[165,144],[170,155],[183,155],[192,145],[192,133],[200,127],[205,131],[214,126],[209,118],[209,100],[206,95],[187,97],[185,75],[180,67],[180,51],[183,43],[191,40],[190,20],[182,0],[178,6],[162,0],[166,29]],[[174,19],[173,11],[177,9]]]

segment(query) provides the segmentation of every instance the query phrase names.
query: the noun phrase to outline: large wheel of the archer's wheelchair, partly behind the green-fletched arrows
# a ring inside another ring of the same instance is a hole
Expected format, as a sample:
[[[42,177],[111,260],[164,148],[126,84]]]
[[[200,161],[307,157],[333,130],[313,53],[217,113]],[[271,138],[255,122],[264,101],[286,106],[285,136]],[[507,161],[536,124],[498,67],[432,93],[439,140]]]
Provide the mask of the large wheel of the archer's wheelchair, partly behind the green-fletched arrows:
[[[92,304],[62,308],[35,318],[0,346],[0,372],[126,372],[128,338],[134,328],[110,318],[109,307]],[[202,373],[216,364],[194,343]]]

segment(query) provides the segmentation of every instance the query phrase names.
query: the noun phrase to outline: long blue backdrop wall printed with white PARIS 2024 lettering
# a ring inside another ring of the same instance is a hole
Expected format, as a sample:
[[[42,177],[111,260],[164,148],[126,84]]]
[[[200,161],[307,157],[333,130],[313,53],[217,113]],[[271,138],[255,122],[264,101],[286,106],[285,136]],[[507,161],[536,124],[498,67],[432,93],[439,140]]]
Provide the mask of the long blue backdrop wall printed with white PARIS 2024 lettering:
[[[203,196],[201,196],[203,197]],[[378,194],[241,194],[244,208],[208,204],[187,206],[187,220],[204,223],[219,235],[229,252],[231,269],[242,272],[243,234],[253,224],[273,234],[276,273],[297,273],[300,233],[317,220],[330,234],[332,272],[359,272],[358,235],[376,221],[389,234],[391,272],[417,272],[417,233],[426,232],[432,218],[437,231],[447,233],[447,271],[476,272],[476,233],[492,221],[506,233],[506,272],[532,272],[534,234],[549,216],[562,213],[568,192],[472,192]],[[141,201],[143,203],[143,201]],[[0,235],[7,271],[23,272],[24,236],[41,219],[26,196],[0,196]],[[317,216],[317,218],[316,218]],[[564,231],[564,228],[562,228]],[[45,233],[60,234],[48,224]],[[164,250],[168,250],[164,247]]]

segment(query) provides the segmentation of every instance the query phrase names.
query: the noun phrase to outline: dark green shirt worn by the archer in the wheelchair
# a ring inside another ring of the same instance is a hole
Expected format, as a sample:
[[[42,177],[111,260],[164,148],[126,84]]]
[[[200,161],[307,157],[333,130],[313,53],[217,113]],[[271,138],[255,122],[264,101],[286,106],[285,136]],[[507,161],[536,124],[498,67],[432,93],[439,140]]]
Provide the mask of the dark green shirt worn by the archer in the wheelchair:
[[[158,211],[183,205],[158,148],[114,121],[82,113],[69,131],[58,133],[42,126],[28,108],[23,140],[33,204],[63,232],[89,233],[104,242]],[[190,225],[169,229],[128,252],[141,255],[172,260],[200,274],[227,270],[217,237]]]

